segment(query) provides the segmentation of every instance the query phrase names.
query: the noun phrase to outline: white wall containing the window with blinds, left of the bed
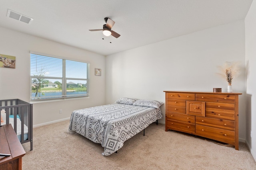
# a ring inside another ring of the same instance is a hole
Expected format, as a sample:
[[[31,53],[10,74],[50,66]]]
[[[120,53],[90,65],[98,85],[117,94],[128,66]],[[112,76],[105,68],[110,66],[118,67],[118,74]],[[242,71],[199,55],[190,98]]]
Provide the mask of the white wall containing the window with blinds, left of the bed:
[[[69,119],[75,109],[105,104],[105,56],[3,27],[0,27],[0,54],[15,56],[16,68],[0,68],[0,99],[30,102],[30,51],[90,63],[90,98],[35,103],[34,126]],[[101,68],[102,76],[94,76],[94,68]]]

